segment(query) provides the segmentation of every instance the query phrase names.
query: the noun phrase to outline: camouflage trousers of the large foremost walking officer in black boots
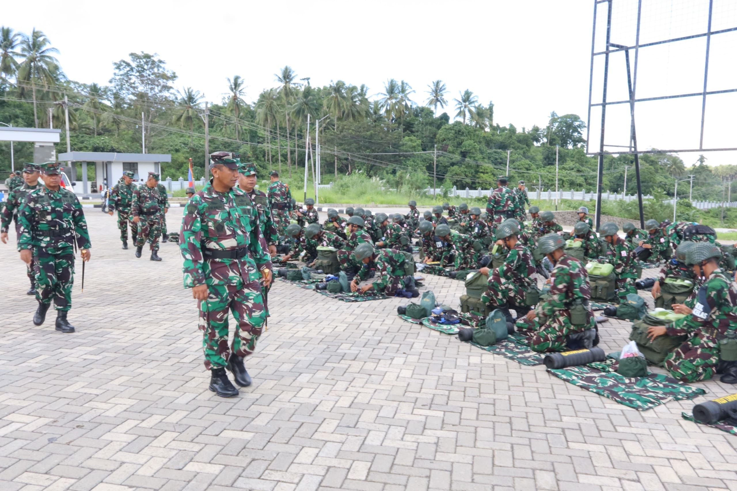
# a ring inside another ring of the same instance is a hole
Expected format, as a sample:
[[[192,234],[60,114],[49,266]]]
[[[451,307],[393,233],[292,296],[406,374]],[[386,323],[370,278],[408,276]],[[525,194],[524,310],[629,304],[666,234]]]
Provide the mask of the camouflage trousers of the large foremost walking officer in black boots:
[[[253,269],[256,271],[256,268]],[[256,275],[259,275],[257,271]],[[240,285],[209,285],[208,290],[207,300],[200,302],[199,327],[203,331],[205,368],[213,369],[226,366],[231,353],[246,357],[254,352],[266,310],[257,279],[248,279]],[[228,311],[233,313],[236,321],[230,344]]]

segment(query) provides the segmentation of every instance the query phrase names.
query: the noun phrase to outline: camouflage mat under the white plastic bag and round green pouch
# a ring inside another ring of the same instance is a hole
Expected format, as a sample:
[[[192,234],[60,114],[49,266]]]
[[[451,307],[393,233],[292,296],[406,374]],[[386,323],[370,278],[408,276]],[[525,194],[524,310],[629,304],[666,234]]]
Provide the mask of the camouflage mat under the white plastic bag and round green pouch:
[[[670,400],[693,399],[706,394],[704,389],[689,386],[672,377],[652,373],[646,377],[623,377],[616,372],[604,373],[586,366],[548,369],[561,380],[607,397],[629,408],[646,411]]]

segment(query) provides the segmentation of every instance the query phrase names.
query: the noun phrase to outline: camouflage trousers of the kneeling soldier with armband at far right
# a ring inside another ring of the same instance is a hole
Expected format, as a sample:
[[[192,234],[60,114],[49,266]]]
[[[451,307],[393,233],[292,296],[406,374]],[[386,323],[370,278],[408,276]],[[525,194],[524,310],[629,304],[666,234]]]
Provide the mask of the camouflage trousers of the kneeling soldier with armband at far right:
[[[709,380],[719,364],[719,344],[708,332],[699,330],[675,351],[668,353],[663,366],[671,377],[682,382]]]

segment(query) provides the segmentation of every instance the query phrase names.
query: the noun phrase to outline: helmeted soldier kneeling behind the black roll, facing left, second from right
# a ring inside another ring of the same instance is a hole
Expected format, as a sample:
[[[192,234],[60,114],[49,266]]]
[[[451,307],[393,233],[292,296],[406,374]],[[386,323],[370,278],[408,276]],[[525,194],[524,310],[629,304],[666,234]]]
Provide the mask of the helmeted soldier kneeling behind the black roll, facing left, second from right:
[[[537,352],[565,351],[595,346],[596,321],[591,311],[588,274],[579,260],[565,255],[565,240],[547,234],[537,247],[555,265],[548,283],[548,299],[527,314],[530,348]],[[537,318],[537,321],[535,319]]]

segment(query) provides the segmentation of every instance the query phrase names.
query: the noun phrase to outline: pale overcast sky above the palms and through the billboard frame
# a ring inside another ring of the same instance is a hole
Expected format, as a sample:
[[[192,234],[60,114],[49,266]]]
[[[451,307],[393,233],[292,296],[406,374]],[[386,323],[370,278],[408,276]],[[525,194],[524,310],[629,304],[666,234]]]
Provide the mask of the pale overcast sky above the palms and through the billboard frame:
[[[640,42],[705,32],[708,0],[643,2]],[[6,2],[1,23],[41,29],[60,50],[71,80],[107,83],[113,61],[130,52],[158,53],[191,86],[220,102],[226,77],[238,74],[246,100],[277,86],[291,66],[312,86],[332,80],[383,92],[388,78],[406,80],[424,104],[427,85],[443,80],[453,98],[469,89],[494,102],[494,122],[541,128],[551,111],[587,121],[593,0],[527,1],[139,1]],[[603,6],[603,7],[602,7]],[[597,15],[597,50],[604,43],[606,4]],[[635,43],[637,0],[614,0],[611,41]],[[737,27],[737,2],[714,0],[712,29]],[[737,88],[737,32],[713,35],[708,90]],[[705,38],[640,49],[637,96],[703,90]],[[632,53],[634,58],[634,53]],[[632,63],[634,59],[632,60]],[[593,102],[601,102],[604,56],[596,57]],[[629,99],[623,53],[609,60],[607,99]],[[378,97],[378,96],[377,96]],[[707,98],[704,148],[737,147],[737,92]],[[640,150],[699,147],[701,97],[638,102]],[[440,109],[439,109],[439,112]],[[591,114],[590,151],[599,147],[601,112]],[[629,144],[629,104],[607,108],[607,144]],[[608,150],[615,150],[609,147]],[[686,165],[699,153],[682,153]],[[708,164],[737,164],[736,152],[705,153]]]

